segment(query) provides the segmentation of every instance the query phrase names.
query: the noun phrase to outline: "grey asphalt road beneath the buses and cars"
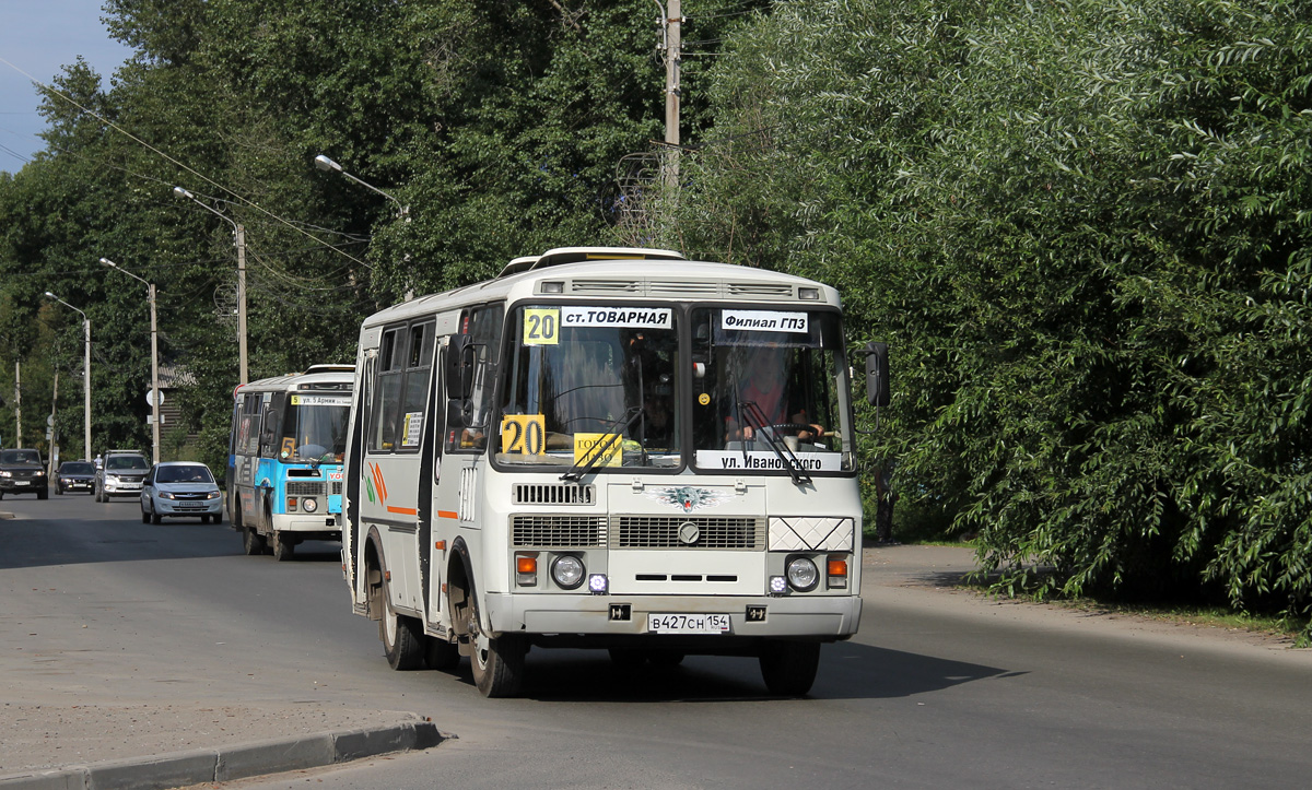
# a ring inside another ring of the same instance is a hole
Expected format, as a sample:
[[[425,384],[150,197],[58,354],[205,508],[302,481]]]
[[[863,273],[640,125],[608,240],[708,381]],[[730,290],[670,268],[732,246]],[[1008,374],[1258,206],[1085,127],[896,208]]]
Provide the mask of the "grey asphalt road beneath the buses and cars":
[[[543,650],[522,698],[483,699],[467,668],[387,668],[377,626],[350,614],[335,543],[277,563],[243,556],[227,525],[143,525],[129,501],[7,497],[0,510],[18,516],[0,521],[5,706],[226,706],[231,730],[251,711],[413,711],[457,736],[231,787],[1287,787],[1312,776],[1309,651],[980,598],[939,584],[966,568],[951,549],[867,552],[861,634],[825,648],[806,699],[769,697],[747,659],[621,671],[604,654]]]

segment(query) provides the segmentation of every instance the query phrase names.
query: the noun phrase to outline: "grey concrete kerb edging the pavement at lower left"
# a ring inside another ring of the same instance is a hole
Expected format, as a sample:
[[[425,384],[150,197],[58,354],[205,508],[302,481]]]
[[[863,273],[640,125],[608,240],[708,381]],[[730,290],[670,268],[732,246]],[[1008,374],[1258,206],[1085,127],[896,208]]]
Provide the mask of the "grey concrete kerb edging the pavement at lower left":
[[[450,738],[432,722],[404,722],[298,738],[173,752],[0,777],[3,790],[164,790],[323,768],[392,752],[428,749]]]

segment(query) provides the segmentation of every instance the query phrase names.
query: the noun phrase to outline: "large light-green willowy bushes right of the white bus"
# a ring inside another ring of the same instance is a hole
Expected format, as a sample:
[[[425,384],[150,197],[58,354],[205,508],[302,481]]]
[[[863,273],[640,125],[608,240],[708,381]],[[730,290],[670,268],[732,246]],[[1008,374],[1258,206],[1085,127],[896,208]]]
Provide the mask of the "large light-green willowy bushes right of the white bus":
[[[1309,21],[781,5],[716,75],[678,226],[834,282],[892,344],[871,455],[1005,585],[1305,612]]]

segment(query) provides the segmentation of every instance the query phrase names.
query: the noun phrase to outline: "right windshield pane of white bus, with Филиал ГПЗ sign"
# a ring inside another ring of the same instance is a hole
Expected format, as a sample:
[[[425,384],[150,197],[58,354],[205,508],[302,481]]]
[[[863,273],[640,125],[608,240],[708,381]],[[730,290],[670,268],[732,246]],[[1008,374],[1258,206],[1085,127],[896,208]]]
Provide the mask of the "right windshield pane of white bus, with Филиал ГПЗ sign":
[[[698,468],[853,468],[836,312],[715,307],[691,319]]]

